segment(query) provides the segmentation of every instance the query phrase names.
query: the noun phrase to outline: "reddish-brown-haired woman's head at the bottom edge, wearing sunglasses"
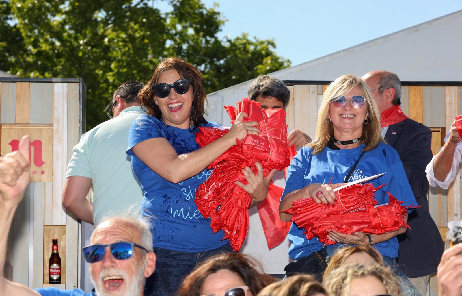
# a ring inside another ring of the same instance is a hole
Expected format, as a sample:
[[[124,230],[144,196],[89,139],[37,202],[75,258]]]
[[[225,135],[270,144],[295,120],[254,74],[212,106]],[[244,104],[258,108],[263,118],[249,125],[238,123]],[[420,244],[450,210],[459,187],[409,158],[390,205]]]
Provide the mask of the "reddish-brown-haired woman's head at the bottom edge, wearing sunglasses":
[[[255,259],[239,253],[224,253],[197,266],[176,291],[177,296],[256,296],[274,282]]]

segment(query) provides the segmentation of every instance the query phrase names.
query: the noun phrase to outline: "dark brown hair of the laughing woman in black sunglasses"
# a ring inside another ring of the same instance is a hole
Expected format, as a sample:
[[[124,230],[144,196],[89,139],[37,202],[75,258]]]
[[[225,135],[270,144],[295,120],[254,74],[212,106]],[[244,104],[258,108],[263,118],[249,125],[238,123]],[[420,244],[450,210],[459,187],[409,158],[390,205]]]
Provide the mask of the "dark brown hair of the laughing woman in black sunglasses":
[[[191,110],[189,111],[189,126],[197,128],[200,123],[207,122],[204,118],[204,103],[207,101],[207,98],[204,93],[204,87],[202,86],[202,76],[197,68],[179,57],[172,56],[159,62],[152,74],[151,80],[149,80],[138,94],[141,105],[146,107],[147,114],[157,119],[162,118],[160,108],[154,103],[154,96],[156,94],[152,86],[158,83],[159,76],[162,72],[172,69],[176,70],[181,78],[189,78],[190,80],[190,86],[193,88],[193,102]]]

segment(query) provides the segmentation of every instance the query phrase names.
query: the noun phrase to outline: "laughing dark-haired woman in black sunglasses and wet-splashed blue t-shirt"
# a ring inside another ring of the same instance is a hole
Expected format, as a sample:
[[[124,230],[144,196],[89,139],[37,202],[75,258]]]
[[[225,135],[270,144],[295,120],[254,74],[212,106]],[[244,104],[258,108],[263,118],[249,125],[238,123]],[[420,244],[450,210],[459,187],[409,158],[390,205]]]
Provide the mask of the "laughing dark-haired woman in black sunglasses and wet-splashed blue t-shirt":
[[[146,115],[130,129],[127,154],[144,191],[141,214],[153,218],[155,273],[146,281],[145,295],[172,295],[182,277],[202,259],[232,252],[224,232],[212,233],[194,202],[195,191],[210,175],[207,166],[246,135],[258,135],[256,122],[241,113],[228,133],[200,148],[198,127],[219,127],[204,118],[206,94],[200,72],[189,63],[170,57],[161,61],[151,80],[139,93]],[[244,173],[248,185],[240,186],[252,205],[264,200],[272,173]]]

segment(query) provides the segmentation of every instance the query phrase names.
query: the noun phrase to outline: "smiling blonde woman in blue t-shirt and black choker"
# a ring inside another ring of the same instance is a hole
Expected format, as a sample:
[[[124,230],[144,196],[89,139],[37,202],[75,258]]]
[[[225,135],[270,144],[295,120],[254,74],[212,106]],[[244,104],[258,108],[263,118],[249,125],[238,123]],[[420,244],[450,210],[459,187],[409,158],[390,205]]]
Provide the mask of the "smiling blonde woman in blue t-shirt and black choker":
[[[354,75],[343,75],[334,80],[322,94],[316,139],[298,152],[287,170],[280,211],[292,207],[292,202],[301,198],[333,204],[336,202],[335,188],[380,173],[385,174],[368,181],[374,187],[386,184],[375,192],[378,204],[389,202],[388,191],[404,205],[416,205],[399,155],[380,136],[379,114],[363,80]],[[280,212],[280,217],[284,222],[291,219],[291,215],[284,212]],[[407,216],[404,220],[407,221]],[[326,255],[331,256],[336,248],[343,244],[372,245],[382,254],[385,264],[398,273],[403,289],[410,287],[407,289],[409,294],[405,295],[418,295],[395,260],[398,256],[395,236],[405,231],[404,227],[384,234],[342,234],[330,230],[328,239],[334,243],[324,246],[317,238],[307,240],[304,228],[292,223],[289,256],[297,261],[287,265],[286,272],[288,275],[311,273],[321,280]]]

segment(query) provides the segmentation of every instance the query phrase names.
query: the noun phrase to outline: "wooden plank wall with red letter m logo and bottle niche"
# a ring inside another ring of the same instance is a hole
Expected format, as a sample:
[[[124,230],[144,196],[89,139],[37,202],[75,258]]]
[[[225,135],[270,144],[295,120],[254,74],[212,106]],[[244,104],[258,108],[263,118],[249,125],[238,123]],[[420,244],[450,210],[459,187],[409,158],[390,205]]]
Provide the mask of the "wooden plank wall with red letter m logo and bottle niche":
[[[0,154],[24,135],[32,141],[31,184],[16,211],[7,254],[12,280],[30,288],[50,286],[50,236],[58,238],[63,265],[62,284],[53,286],[80,286],[79,223],[61,204],[67,163],[79,142],[79,97],[79,83],[0,83]]]

